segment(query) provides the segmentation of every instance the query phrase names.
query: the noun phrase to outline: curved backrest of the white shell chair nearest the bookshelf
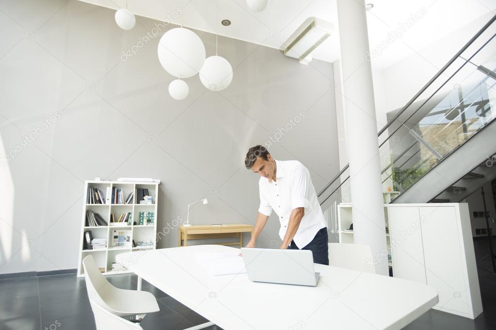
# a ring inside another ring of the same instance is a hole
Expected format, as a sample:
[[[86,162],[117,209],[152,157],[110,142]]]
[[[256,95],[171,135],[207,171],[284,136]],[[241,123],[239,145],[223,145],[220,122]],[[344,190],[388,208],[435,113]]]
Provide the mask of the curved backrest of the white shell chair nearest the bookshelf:
[[[105,277],[103,277],[95,264],[95,260],[93,260],[93,256],[88,255],[83,259],[83,268],[88,297],[90,299],[95,299],[97,303],[107,308],[107,310],[111,310],[104,299],[108,290],[113,286]]]

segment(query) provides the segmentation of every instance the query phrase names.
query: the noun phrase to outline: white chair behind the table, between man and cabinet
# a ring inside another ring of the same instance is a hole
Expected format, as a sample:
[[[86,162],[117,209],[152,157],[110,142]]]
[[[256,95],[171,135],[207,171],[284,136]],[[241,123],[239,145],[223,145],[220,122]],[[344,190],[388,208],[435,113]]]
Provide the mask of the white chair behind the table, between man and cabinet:
[[[369,245],[329,243],[329,266],[375,274]]]

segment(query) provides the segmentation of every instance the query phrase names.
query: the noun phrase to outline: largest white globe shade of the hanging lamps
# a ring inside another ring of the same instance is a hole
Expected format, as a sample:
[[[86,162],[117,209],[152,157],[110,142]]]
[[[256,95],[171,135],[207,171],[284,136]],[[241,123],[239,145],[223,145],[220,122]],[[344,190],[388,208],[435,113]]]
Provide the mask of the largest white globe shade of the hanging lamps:
[[[158,59],[174,77],[188,78],[205,62],[205,46],[193,31],[175,28],[164,33],[158,43]]]

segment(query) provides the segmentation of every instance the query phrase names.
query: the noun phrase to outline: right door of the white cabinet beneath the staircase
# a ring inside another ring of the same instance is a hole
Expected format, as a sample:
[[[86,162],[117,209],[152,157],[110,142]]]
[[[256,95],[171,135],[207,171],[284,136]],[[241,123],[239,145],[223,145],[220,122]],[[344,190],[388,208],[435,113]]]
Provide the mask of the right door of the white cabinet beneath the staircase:
[[[439,293],[438,308],[468,313],[460,234],[453,206],[420,208],[427,284]]]

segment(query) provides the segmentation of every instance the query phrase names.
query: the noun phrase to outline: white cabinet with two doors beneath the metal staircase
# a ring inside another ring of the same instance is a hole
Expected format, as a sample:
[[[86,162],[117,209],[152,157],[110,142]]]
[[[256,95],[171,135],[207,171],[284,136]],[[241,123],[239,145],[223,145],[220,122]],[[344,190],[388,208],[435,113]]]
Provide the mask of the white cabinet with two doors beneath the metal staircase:
[[[439,294],[434,309],[471,319],[482,313],[467,204],[387,208],[393,276],[434,287]]]

